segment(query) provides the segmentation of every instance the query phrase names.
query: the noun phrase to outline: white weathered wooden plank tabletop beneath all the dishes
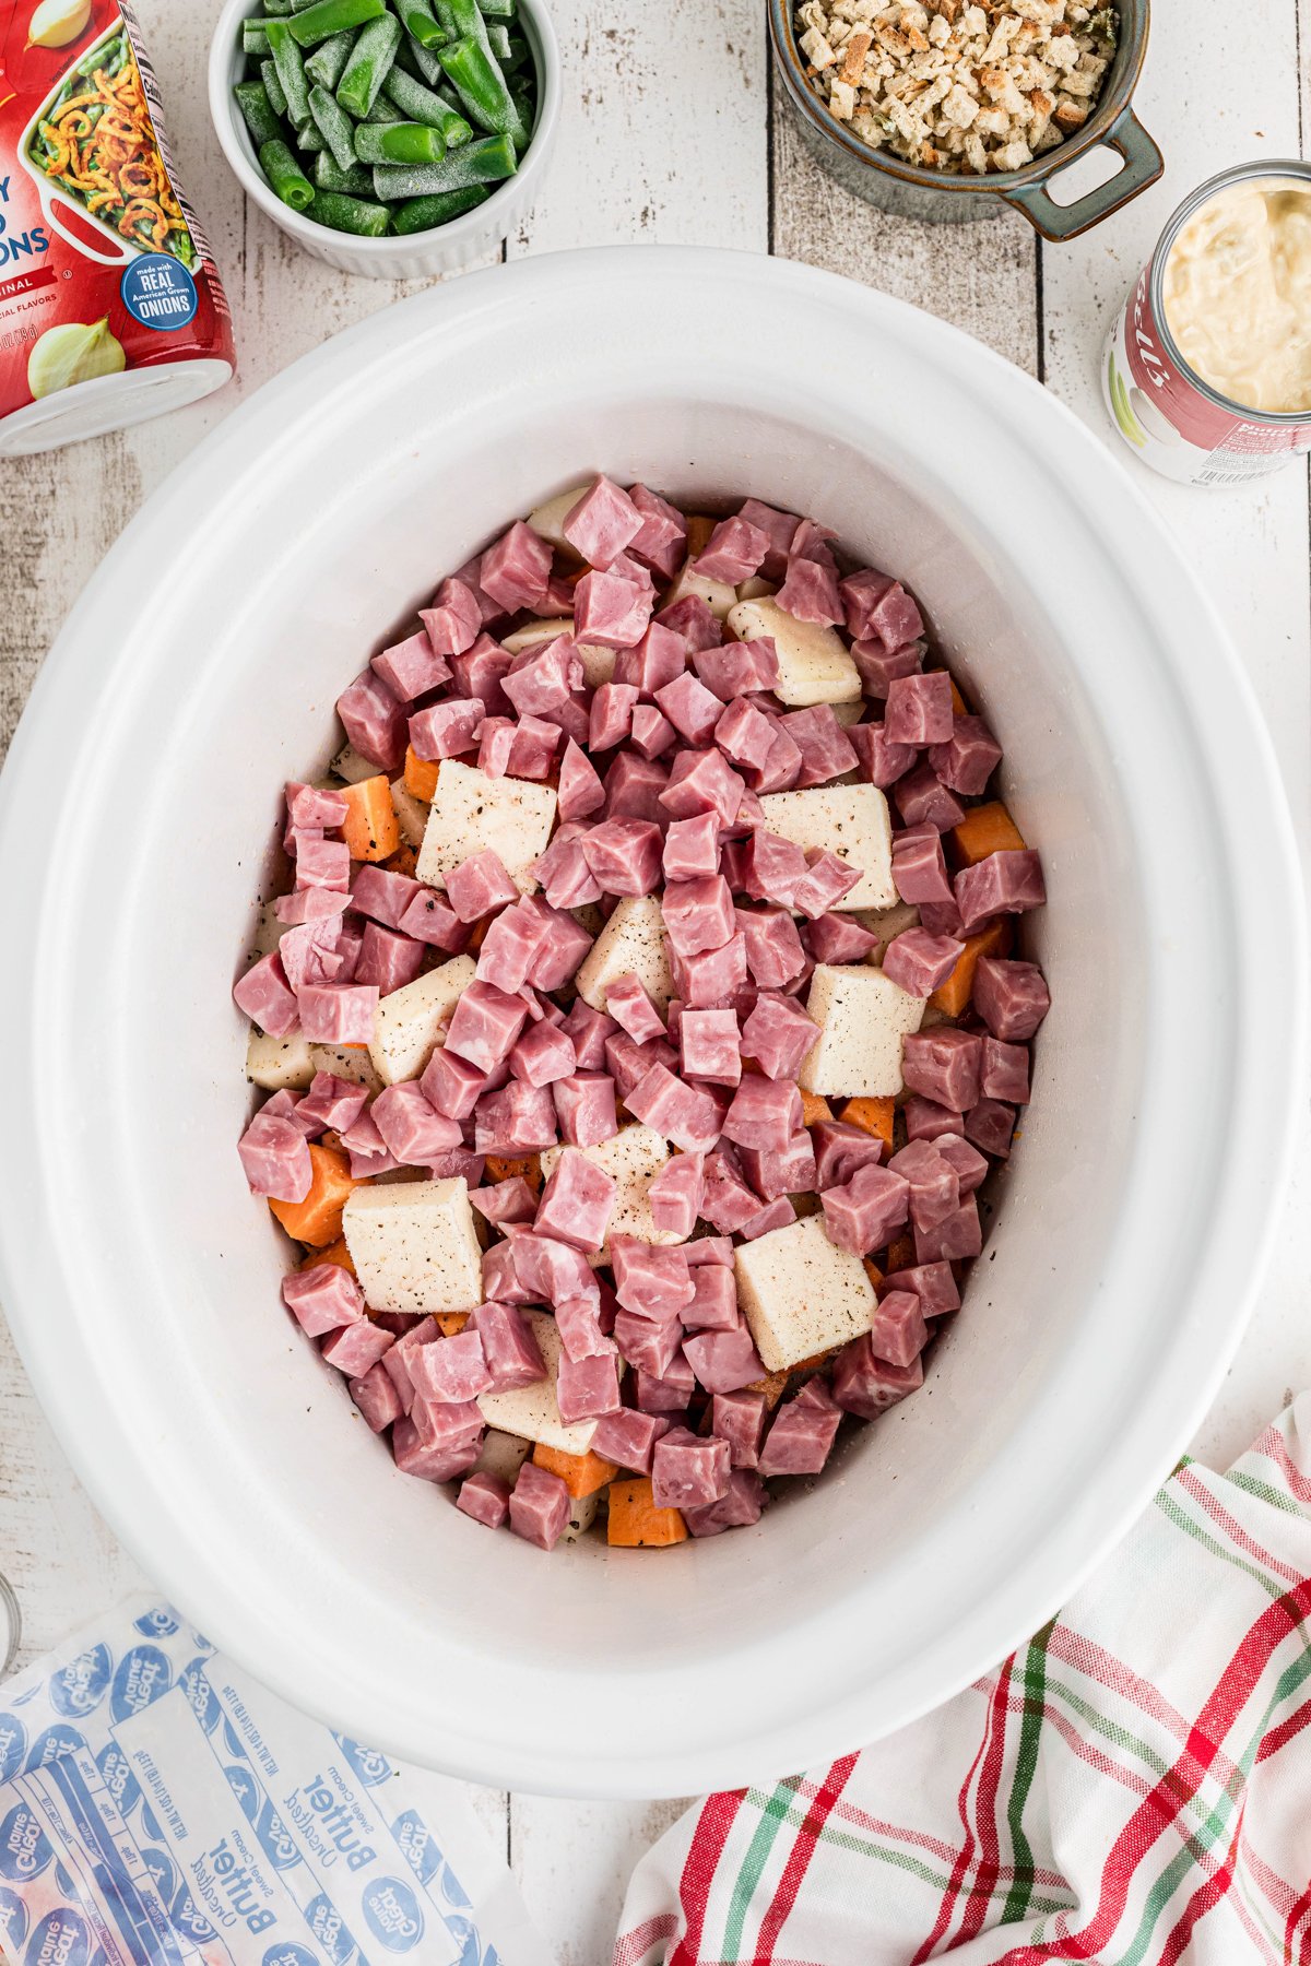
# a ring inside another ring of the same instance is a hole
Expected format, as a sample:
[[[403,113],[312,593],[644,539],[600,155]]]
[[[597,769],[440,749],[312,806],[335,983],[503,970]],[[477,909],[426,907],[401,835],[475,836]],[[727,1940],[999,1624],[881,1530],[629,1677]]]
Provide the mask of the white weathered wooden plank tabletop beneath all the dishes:
[[[85,578],[140,501],[250,389],[324,336],[391,305],[405,287],[350,279],[295,252],[226,171],[204,110],[204,55],[218,0],[138,0],[179,165],[232,299],[242,379],[181,415],[75,454],[0,466],[10,631],[0,661],[0,741]],[[1297,0],[1252,0],[1240,33],[1197,35],[1195,10],[1158,0],[1138,96],[1168,153],[1168,179],[1065,248],[1040,248],[1020,218],[932,228],[871,212],[806,157],[770,77],[759,0],[603,6],[556,0],[578,102],[539,210],[507,254],[621,240],[719,244],[826,265],[914,301],[1042,376],[1109,442],[1097,352],[1112,309],[1173,202],[1223,163],[1297,155],[1309,102],[1297,63]],[[1311,35],[1311,0],[1303,35]],[[1307,39],[1305,45],[1311,45]],[[772,122],[772,130],[770,130]],[[77,470],[69,468],[71,458]],[[1193,493],[1136,468],[1177,529],[1256,684],[1311,859],[1311,576],[1307,480]],[[1311,1382],[1311,1144],[1258,1319],[1201,1437],[1232,1455],[1293,1384]],[[143,1583],[75,1482],[0,1321],[0,1569],[24,1608],[31,1657]],[[558,1803],[472,1791],[503,1842],[558,1966],[603,1966],[625,1878],[676,1805]]]

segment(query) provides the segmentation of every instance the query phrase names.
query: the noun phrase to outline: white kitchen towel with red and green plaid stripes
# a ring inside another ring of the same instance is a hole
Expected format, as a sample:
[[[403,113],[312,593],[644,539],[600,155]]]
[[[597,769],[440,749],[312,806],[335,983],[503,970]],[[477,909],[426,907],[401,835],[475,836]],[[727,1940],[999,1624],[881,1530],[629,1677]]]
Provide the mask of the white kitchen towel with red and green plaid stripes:
[[[1311,1394],[904,1732],[712,1795],[615,1966],[1311,1960]]]

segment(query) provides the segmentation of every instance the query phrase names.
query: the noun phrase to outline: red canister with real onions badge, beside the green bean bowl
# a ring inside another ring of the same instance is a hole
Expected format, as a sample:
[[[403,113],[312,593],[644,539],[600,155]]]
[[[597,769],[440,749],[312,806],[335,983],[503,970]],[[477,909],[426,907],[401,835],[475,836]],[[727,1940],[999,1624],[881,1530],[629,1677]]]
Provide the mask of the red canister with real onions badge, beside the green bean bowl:
[[[128,0],[0,0],[0,456],[193,403],[232,364]]]

